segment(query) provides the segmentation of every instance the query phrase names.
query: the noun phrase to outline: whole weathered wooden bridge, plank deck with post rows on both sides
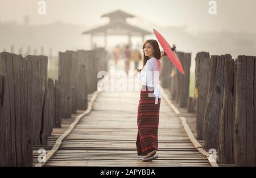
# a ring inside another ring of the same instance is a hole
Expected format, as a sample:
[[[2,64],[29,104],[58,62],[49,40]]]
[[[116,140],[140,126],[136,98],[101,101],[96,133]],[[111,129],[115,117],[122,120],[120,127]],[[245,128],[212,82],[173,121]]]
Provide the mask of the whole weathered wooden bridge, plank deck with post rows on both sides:
[[[0,165],[255,165],[256,57],[197,53],[192,98],[191,53],[177,55],[184,76],[161,60],[159,158],[142,162],[139,90],[103,90],[109,76],[97,74],[113,65],[106,51],[60,52],[58,78],[48,78],[46,56],[1,53]]]

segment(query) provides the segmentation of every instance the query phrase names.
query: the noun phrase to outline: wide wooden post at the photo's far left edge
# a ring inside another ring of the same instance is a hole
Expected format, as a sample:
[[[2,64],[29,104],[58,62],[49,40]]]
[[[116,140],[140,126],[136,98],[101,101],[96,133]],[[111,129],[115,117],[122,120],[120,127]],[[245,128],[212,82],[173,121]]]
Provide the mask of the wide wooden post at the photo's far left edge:
[[[32,165],[32,98],[27,61],[21,55],[0,53],[0,165]],[[5,80],[3,80],[5,78]]]

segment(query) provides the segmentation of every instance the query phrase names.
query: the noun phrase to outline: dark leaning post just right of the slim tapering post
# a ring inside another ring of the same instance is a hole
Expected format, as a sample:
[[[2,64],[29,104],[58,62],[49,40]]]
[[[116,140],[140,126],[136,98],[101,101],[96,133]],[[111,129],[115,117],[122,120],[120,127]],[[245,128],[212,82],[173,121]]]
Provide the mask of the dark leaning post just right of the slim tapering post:
[[[203,125],[204,148],[218,150],[220,138],[220,117],[224,97],[224,63],[230,55],[211,56],[209,69],[209,90],[205,104]]]

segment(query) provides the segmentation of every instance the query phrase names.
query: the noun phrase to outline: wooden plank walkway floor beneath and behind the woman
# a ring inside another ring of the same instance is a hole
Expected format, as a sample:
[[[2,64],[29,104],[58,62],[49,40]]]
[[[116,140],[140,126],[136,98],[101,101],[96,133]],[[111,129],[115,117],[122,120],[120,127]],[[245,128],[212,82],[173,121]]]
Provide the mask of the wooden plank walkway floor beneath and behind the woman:
[[[159,158],[137,156],[139,92],[101,92],[46,166],[210,166],[193,147],[179,117],[162,99]]]

